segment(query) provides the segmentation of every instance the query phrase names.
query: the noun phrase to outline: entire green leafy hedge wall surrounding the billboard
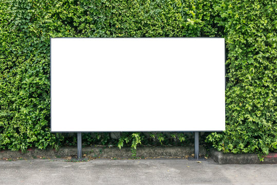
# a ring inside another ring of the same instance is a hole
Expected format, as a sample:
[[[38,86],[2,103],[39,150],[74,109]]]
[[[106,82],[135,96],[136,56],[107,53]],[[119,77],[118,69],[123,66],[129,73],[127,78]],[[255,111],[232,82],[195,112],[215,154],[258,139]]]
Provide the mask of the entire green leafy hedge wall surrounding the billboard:
[[[274,151],[276,9],[275,1],[250,0],[1,1],[0,149],[57,148],[64,139],[49,128],[50,37],[222,36],[226,132],[210,134],[207,142],[225,152]],[[140,136],[124,138],[135,142]]]

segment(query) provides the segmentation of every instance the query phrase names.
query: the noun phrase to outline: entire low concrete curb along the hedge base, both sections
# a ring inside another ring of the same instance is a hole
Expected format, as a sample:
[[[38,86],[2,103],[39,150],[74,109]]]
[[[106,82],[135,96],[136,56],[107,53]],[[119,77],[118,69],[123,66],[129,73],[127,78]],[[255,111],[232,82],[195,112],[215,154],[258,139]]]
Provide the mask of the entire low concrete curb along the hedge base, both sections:
[[[122,158],[132,157],[130,147],[83,147],[82,154],[95,158]],[[194,154],[191,146],[141,146],[137,148],[137,157],[187,157]],[[199,154],[206,155],[205,147],[199,147]],[[224,154],[215,149],[208,152],[209,156],[218,164],[277,164],[277,153],[269,153],[264,161],[258,159],[257,154]],[[61,147],[58,151],[54,149],[40,150],[28,149],[26,153],[20,151],[0,151],[0,159],[16,158],[53,158],[77,156],[77,147]]]

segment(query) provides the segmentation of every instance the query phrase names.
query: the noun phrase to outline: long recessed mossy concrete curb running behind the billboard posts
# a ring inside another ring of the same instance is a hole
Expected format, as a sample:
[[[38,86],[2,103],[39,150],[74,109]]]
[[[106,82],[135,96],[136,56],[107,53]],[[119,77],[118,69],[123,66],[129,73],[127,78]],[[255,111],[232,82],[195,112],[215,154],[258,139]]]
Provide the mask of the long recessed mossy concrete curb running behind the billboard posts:
[[[82,154],[86,156],[97,158],[131,158],[132,153],[130,147],[83,147]],[[137,147],[137,157],[184,157],[194,154],[194,147],[190,146],[143,146]],[[199,147],[199,154],[206,155],[206,149]],[[31,158],[31,157],[67,157],[76,156],[77,147],[61,147],[58,151],[54,149],[40,150],[28,149],[26,153],[20,151],[0,151],[0,159],[9,158]]]

